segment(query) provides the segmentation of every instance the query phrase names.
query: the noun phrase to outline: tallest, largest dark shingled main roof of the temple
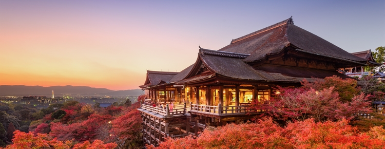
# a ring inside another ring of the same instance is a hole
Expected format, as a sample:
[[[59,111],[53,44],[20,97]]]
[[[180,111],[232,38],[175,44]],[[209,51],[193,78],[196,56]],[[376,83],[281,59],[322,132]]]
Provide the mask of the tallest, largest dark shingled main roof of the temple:
[[[311,53],[358,62],[365,61],[311,32],[295,26],[291,18],[235,39],[230,45],[219,51],[250,54],[243,61],[253,62],[265,58],[266,55],[280,53],[290,45]]]

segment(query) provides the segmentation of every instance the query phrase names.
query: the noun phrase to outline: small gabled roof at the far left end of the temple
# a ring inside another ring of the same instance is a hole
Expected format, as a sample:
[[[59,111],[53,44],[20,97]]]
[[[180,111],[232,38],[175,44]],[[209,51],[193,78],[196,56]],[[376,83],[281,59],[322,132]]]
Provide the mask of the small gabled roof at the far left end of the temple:
[[[148,86],[159,85],[161,82],[169,82],[179,72],[166,72],[166,71],[150,71],[147,70],[147,78],[144,85],[139,87],[145,88]]]

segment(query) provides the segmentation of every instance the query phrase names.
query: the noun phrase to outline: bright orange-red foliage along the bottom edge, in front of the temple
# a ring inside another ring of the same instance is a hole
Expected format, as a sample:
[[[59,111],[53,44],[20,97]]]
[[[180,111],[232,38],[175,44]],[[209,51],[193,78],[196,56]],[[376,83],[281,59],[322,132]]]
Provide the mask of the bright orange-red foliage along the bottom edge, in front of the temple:
[[[313,119],[287,124],[282,128],[272,119],[258,123],[228,124],[206,128],[201,136],[167,139],[149,148],[382,148],[385,129],[374,127],[359,133],[348,120],[314,122]]]

